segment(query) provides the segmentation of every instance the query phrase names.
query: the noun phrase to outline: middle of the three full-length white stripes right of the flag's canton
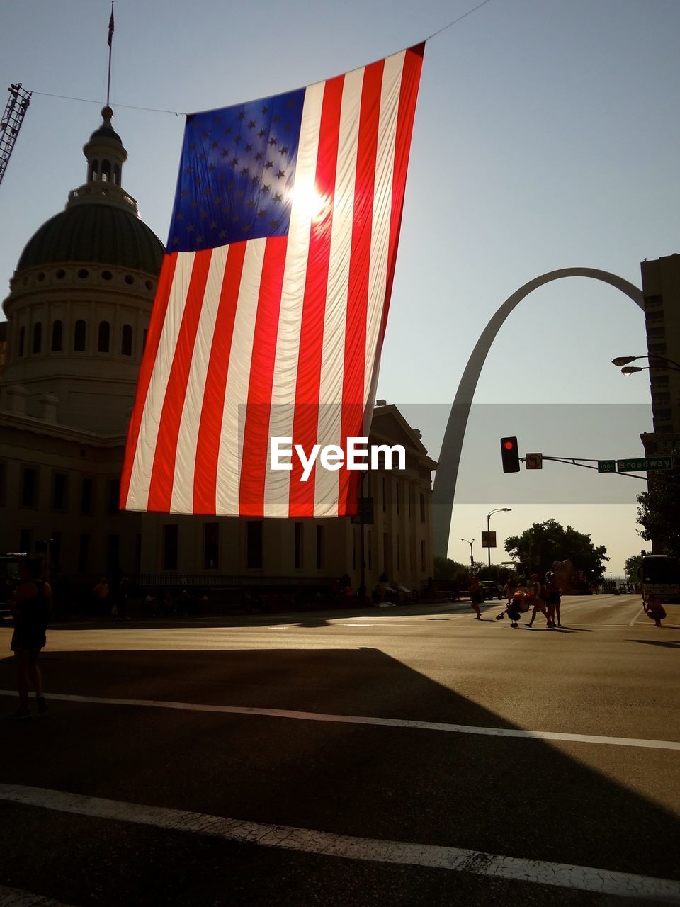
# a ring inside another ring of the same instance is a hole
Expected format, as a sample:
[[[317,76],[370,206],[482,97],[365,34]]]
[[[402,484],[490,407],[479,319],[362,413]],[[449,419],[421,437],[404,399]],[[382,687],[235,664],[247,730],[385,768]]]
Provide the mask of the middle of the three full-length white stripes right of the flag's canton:
[[[359,141],[359,112],[364,68],[345,75],[340,112],[335,204],[328,262],[325,301],[324,346],[319,388],[320,444],[340,444],[342,438],[343,375],[345,369],[345,320],[352,228],[355,214],[356,150]],[[314,515],[337,516],[339,473],[316,469]]]

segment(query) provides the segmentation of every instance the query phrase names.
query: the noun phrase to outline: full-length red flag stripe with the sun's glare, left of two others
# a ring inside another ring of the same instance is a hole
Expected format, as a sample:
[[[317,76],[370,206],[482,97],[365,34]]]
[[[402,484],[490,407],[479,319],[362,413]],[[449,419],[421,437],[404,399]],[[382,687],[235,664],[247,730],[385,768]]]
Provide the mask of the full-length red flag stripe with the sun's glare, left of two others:
[[[344,75],[325,83],[316,155],[315,188],[319,196],[325,199],[325,205],[318,218],[312,221],[309,237],[297,362],[296,407],[293,418],[293,444],[302,444],[307,453],[312,445],[316,444],[318,428],[325,299],[328,289],[328,263],[331,255],[335,205],[335,171],[344,85]],[[315,469],[306,482],[301,481],[302,472],[300,459],[294,457],[290,473],[289,516],[314,516]]]

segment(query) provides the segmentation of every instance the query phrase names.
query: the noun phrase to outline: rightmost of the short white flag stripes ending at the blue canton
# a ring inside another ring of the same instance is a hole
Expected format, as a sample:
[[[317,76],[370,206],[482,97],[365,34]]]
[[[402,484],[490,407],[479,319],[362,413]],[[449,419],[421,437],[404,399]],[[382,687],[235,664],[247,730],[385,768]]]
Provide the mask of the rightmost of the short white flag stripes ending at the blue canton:
[[[227,372],[227,387],[222,414],[222,433],[219,439],[218,475],[215,499],[217,513],[238,513],[243,427],[246,422],[250,360],[253,356],[253,337],[257,317],[257,297],[265,260],[267,239],[249,239],[243,261],[241,284],[231,355]],[[238,351],[238,353],[236,353]],[[248,468],[248,464],[246,464]]]

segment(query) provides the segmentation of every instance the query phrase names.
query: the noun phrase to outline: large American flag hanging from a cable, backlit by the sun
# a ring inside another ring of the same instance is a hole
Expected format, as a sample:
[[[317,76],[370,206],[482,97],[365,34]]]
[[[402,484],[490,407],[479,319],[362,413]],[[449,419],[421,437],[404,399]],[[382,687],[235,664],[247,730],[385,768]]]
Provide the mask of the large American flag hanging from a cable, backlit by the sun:
[[[121,508],[356,512],[361,473],[301,482],[270,439],[367,434],[423,48],[187,118]]]

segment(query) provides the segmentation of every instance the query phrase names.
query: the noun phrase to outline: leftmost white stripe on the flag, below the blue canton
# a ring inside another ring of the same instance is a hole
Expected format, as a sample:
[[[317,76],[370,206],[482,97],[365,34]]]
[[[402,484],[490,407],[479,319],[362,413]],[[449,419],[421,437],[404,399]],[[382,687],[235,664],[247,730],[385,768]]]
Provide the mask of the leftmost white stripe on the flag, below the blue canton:
[[[156,441],[160,425],[160,414],[163,411],[165,389],[170,376],[175,346],[180,334],[182,316],[187,302],[189,281],[194,266],[195,252],[180,252],[172,278],[170,299],[165,321],[160,334],[160,343],[153,363],[151,382],[144,401],[141,416],[140,434],[134,453],[134,463],[130,479],[127,509],[145,511],[149,501],[151,471],[156,453]]]

